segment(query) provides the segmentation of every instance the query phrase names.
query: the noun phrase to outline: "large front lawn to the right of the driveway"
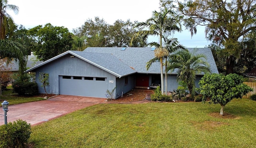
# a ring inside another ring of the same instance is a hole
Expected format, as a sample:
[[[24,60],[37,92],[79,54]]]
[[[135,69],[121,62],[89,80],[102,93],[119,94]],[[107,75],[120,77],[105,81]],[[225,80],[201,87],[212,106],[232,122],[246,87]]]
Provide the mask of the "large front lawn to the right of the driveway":
[[[98,104],[32,127],[35,148],[255,148],[256,101]]]

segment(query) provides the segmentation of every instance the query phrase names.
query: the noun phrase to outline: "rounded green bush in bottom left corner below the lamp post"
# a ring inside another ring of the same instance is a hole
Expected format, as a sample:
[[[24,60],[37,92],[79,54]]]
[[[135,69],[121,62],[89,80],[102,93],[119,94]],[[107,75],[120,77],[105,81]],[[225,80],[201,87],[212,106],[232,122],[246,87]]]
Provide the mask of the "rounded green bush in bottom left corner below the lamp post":
[[[17,120],[0,126],[1,148],[25,148],[31,134],[31,126],[26,121]]]

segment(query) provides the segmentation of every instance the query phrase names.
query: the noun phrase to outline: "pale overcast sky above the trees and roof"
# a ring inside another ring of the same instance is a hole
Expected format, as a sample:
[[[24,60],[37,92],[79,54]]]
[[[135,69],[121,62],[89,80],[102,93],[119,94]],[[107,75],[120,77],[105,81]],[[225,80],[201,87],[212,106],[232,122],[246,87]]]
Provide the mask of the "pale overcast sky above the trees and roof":
[[[143,22],[152,16],[153,11],[159,12],[159,0],[8,0],[8,4],[19,7],[16,15],[8,11],[17,25],[26,29],[51,23],[53,26],[64,26],[72,32],[81,27],[87,19],[98,16],[106,23],[113,24],[120,19]],[[174,33],[181,45],[188,48],[202,48],[210,45],[205,39],[204,28],[198,28],[196,35],[191,37],[184,27],[181,33]],[[157,37],[148,41],[158,42]]]

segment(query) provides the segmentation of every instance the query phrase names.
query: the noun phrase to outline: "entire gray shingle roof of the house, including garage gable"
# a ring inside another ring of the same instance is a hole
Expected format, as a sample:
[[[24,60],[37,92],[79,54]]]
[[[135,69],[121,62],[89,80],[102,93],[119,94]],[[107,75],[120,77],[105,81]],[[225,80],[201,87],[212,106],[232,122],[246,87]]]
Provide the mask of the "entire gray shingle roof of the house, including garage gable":
[[[188,48],[190,52],[193,50],[194,48]],[[202,53],[206,56],[212,73],[218,73],[210,48],[198,48],[197,53]],[[150,69],[146,70],[146,63],[154,58],[154,50],[150,47],[88,47],[84,51],[66,51],[26,70],[26,72],[30,72],[67,54],[74,55],[118,77],[136,72],[160,74],[160,62],[152,63]],[[169,74],[176,74],[176,71],[169,72]]]

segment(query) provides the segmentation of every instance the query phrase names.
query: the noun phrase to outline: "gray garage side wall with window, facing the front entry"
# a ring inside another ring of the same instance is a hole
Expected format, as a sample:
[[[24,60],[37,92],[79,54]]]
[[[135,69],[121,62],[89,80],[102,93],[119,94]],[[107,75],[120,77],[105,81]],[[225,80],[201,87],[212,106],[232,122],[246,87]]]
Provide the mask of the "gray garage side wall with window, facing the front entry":
[[[125,84],[125,79],[128,78],[128,83]],[[135,87],[135,75],[130,75],[122,78],[116,78],[116,98],[121,97],[122,93],[129,92]]]

